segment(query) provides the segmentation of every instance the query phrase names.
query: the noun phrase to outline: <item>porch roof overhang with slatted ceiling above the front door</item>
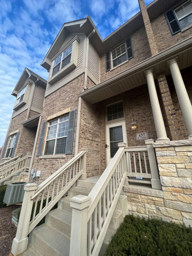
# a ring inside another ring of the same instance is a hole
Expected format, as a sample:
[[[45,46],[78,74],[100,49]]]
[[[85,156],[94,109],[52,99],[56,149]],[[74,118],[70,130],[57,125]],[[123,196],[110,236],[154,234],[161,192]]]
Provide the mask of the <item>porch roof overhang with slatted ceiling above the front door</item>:
[[[187,68],[192,65],[192,38],[189,38],[143,62],[101,82],[78,96],[85,101],[94,104],[119,93],[131,90],[147,83],[145,71],[153,68],[154,79],[157,74],[164,72],[170,74],[167,61],[178,57],[179,69]]]

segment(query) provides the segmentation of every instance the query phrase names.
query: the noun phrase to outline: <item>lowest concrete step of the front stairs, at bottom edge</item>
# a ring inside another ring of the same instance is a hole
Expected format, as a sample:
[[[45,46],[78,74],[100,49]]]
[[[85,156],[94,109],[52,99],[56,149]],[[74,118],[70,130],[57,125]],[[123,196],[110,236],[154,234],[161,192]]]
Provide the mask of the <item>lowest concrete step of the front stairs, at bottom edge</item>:
[[[69,256],[70,238],[46,223],[32,230],[29,244],[35,247],[36,255]],[[28,250],[23,255],[28,256]]]

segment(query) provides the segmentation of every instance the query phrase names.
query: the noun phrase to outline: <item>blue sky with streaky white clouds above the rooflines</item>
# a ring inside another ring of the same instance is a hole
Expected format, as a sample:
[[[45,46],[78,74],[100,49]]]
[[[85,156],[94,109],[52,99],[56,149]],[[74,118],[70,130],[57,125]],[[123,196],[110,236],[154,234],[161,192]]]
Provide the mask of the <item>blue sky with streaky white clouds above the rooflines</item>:
[[[11,92],[26,67],[47,80],[40,63],[63,23],[90,15],[104,39],[139,11],[137,0],[0,0],[0,146],[15,103]]]

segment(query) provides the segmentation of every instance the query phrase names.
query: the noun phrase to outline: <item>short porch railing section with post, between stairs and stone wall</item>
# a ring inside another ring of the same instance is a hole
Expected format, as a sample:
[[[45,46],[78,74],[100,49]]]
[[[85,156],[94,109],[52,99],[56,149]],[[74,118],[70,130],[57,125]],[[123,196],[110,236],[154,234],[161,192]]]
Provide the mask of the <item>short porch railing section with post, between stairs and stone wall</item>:
[[[161,189],[153,142],[146,140],[146,146],[125,148],[128,182],[151,184],[152,188]]]

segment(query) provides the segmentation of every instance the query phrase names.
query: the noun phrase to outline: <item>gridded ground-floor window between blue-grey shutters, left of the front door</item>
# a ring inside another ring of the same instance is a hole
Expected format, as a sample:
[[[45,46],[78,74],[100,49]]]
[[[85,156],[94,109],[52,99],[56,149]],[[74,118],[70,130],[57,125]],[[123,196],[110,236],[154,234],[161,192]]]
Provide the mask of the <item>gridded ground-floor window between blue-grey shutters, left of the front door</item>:
[[[44,155],[65,154],[69,115],[49,122]]]

